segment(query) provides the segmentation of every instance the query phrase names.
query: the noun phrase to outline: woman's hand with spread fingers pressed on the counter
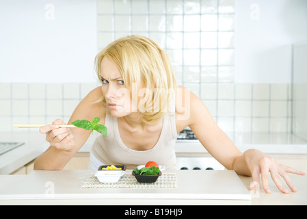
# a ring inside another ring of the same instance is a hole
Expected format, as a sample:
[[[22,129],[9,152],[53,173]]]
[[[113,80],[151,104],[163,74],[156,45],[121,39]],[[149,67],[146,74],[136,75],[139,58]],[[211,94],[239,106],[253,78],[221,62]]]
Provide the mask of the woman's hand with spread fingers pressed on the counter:
[[[291,183],[288,172],[297,175],[305,175],[305,173],[302,171],[278,164],[278,162],[276,162],[276,160],[272,157],[269,157],[265,153],[255,149],[245,151],[243,156],[245,157],[245,162],[252,173],[253,182],[250,185],[250,190],[256,188],[256,183],[260,183],[261,177],[263,190],[265,190],[267,193],[271,193],[271,190],[269,190],[269,173],[271,173],[271,178],[281,192],[289,193],[289,190],[286,190],[286,188],[284,188],[282,185],[280,176],[284,179],[284,181],[286,181],[286,184],[289,186],[291,191],[296,192],[296,189]]]

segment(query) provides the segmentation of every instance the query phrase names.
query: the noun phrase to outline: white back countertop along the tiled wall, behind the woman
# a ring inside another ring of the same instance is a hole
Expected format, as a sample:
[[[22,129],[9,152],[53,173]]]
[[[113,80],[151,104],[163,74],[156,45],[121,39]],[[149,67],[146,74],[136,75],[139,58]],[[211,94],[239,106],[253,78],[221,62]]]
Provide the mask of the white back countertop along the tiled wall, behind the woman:
[[[89,152],[96,136],[91,135],[79,152]],[[254,148],[271,154],[307,154],[307,142],[288,133],[228,133],[228,136],[242,152]],[[45,137],[39,132],[0,132],[0,142],[25,142],[0,156],[0,175],[10,174],[44,152],[49,146]],[[176,142],[175,151],[207,154],[198,140]]]

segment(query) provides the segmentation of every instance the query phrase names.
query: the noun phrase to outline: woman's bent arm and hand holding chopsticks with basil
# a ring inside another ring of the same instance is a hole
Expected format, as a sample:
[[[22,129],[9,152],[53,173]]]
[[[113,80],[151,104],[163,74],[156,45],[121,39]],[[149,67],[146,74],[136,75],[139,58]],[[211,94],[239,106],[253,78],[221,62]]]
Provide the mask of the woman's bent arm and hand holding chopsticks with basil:
[[[92,121],[94,117],[100,117],[100,123],[104,124],[105,110],[101,103],[95,103],[101,99],[101,95],[101,87],[99,87],[85,96],[72,113],[68,124],[78,119]],[[41,133],[46,133],[46,140],[50,146],[34,162],[35,170],[62,170],[90,136],[91,131],[79,128],[59,128],[58,125],[61,124],[64,124],[62,120],[55,120],[52,125],[40,128]]]

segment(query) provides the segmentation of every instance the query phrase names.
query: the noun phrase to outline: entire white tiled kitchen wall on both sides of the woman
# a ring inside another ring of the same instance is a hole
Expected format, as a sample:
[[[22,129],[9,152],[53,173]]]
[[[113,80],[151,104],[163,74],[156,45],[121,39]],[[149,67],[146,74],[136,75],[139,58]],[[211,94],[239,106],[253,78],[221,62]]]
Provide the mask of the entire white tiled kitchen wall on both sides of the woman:
[[[234,0],[97,0],[98,50],[129,34],[168,52],[180,85],[227,132],[290,132],[291,85],[234,83]],[[1,83],[0,131],[14,123],[68,121],[98,83]]]

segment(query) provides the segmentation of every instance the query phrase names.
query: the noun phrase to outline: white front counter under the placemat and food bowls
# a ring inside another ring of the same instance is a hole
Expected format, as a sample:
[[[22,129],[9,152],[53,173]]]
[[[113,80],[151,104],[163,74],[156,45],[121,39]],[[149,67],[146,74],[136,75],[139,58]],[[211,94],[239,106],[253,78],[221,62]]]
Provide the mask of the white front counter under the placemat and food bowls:
[[[265,194],[262,188],[248,191],[252,177],[238,177],[231,170],[175,170],[174,172],[178,187],[160,189],[81,188],[81,182],[93,173],[92,170],[40,170],[30,175],[1,175],[0,205],[307,204],[306,176],[290,175],[297,188],[297,192],[290,194],[282,194],[270,179],[271,194]]]

